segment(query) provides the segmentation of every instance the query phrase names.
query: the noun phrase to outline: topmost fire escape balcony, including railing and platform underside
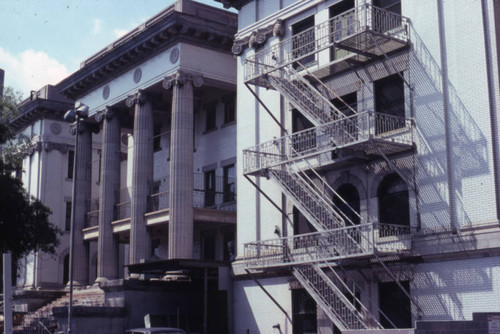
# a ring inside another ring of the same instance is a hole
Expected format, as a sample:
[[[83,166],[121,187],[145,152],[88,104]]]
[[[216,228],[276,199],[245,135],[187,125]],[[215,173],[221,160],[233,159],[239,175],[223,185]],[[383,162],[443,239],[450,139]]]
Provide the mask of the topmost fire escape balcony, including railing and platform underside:
[[[317,65],[318,71],[324,72],[327,68],[329,74],[333,74],[348,68],[349,62],[380,58],[408,44],[408,22],[406,17],[371,4],[358,6],[248,56],[245,59],[244,80],[249,84],[272,88],[265,75],[297,61],[314,58],[312,63]],[[335,48],[347,52],[339,57]],[[326,50],[331,52],[330,61],[318,63],[314,55]],[[342,62],[346,64],[342,65]]]

